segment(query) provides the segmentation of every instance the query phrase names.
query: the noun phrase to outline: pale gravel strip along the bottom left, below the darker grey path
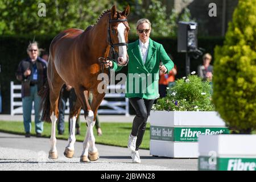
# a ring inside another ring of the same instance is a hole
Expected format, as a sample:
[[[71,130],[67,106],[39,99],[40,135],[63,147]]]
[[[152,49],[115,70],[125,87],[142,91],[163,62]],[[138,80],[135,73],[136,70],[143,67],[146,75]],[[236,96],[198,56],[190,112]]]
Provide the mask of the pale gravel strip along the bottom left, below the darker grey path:
[[[61,171],[166,171],[167,167],[148,166],[133,163],[109,162],[105,159],[99,159],[96,162],[80,163],[79,158],[67,159],[64,156],[57,160],[49,160],[48,154],[44,151],[21,150],[14,148],[0,147],[0,169],[1,170],[61,170]]]

